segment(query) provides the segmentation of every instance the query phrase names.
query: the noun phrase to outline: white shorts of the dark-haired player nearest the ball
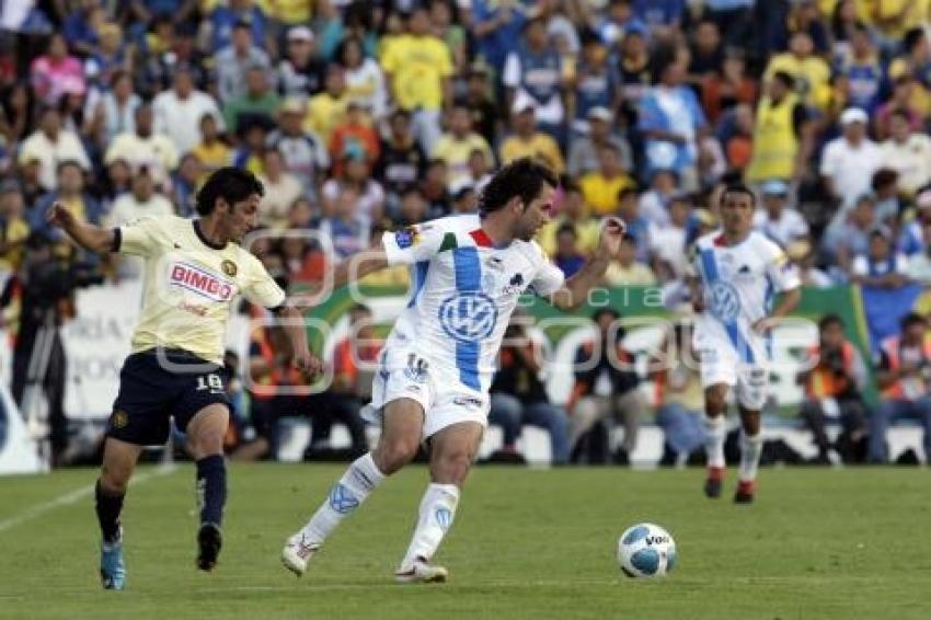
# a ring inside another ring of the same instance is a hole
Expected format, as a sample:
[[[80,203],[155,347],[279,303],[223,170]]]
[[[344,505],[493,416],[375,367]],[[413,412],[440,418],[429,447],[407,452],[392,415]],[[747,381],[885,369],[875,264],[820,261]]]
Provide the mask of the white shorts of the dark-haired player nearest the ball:
[[[411,399],[424,407],[424,439],[460,422],[489,425],[487,393],[463,386],[458,374],[430,365],[410,348],[382,352],[372,379],[371,403],[363,410],[363,417],[379,423],[384,406],[398,399]]]

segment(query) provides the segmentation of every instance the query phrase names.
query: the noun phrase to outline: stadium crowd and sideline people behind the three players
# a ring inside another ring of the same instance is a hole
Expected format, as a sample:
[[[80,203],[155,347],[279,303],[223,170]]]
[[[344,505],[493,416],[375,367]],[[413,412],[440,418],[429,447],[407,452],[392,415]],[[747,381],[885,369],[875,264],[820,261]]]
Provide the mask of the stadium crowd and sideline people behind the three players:
[[[139,277],[138,264],[83,255],[55,233],[44,219],[55,200],[112,226],[191,216],[205,175],[249,169],[265,186],[262,227],[319,233],[254,246],[294,287],[386,230],[474,211],[489,171],[529,156],[562,179],[560,210],[539,241],[567,276],[594,250],[600,218],[617,215],[628,238],[605,285],[671,296],[688,245],[715,228],[715,187],[752,184],[759,230],[806,285],[855,283],[875,296],[875,359],[827,317],[821,363],[798,377],[819,460],[837,448],[848,461],[885,462],[886,428],[900,417],[923,424],[931,453],[929,25],[927,0],[4,3],[0,271],[13,395],[22,402],[43,326],[67,320],[74,288]],[[407,274],[369,282],[403,285]],[[274,455],[277,421],[312,414],[311,456],[333,422],[365,452],[359,409],[370,375],[357,361],[378,354],[369,313],[353,310],[363,330],[327,360],[334,382],[323,394],[244,394],[232,381],[242,398],[231,449]],[[616,318],[594,317],[602,337]],[[60,348],[56,336],[42,379],[57,455],[68,439]],[[261,386],[299,383],[287,348],[266,329],[249,360],[231,356],[228,366]],[[576,359],[591,355],[586,343]],[[872,407],[870,364],[880,391]],[[637,389],[645,380],[660,388],[664,460],[686,462],[702,445],[693,370],[643,377],[599,361],[578,372],[567,403],[549,402],[539,370],[532,351],[504,349],[491,413],[504,428],[504,459],[517,453],[521,425],[533,424],[550,432],[554,462],[598,460],[600,421],[617,417],[623,461],[651,409]],[[837,443],[825,432],[832,418]]]

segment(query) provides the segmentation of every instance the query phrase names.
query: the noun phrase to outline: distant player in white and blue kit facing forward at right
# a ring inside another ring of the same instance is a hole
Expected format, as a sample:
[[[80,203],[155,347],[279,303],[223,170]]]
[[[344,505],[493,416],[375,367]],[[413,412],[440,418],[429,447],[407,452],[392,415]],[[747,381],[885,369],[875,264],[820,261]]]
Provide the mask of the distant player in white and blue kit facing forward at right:
[[[740,470],[734,501],[754,501],[760,460],[760,410],[768,388],[770,330],[798,303],[797,273],[785,253],[752,230],[756,196],[742,184],[721,195],[722,230],[696,242],[690,278],[696,310],[694,348],[704,387],[709,497],[721,496],[724,478],[724,413],[735,390],[740,411]],[[775,294],[782,297],[772,308]]]

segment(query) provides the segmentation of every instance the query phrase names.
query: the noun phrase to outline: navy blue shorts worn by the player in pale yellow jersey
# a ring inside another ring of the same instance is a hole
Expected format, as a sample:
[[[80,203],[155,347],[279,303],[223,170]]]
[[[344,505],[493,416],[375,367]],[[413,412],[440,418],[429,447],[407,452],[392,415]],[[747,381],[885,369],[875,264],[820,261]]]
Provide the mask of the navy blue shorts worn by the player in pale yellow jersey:
[[[138,446],[168,440],[171,417],[184,432],[207,405],[229,411],[222,366],[179,349],[134,353],[119,371],[119,393],[113,403],[106,436]]]

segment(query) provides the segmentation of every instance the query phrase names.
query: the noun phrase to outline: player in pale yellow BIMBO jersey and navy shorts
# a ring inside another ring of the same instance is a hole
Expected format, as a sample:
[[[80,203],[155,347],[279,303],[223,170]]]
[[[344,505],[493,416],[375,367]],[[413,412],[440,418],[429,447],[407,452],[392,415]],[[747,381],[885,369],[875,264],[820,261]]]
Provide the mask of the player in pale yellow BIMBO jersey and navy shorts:
[[[145,259],[142,312],[133,354],[119,374],[97,479],[96,514],[103,542],[104,588],[123,589],[123,527],[119,513],[143,446],[163,445],[170,416],[187,435],[196,459],[200,528],[197,566],[210,571],[221,547],[220,523],[227,495],[223,437],[229,421],[222,369],[223,335],[237,294],[289,319],[295,365],[319,370],[311,356],[301,313],[258,262],[239,245],[255,228],[263,187],[252,173],[216,171],[197,195],[199,219],[147,217],[114,229],[79,221],[53,205],[48,220],[92,252],[120,252]],[[135,303],[127,299],[127,303]]]

